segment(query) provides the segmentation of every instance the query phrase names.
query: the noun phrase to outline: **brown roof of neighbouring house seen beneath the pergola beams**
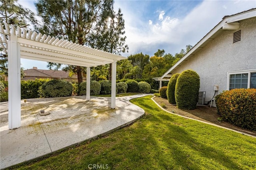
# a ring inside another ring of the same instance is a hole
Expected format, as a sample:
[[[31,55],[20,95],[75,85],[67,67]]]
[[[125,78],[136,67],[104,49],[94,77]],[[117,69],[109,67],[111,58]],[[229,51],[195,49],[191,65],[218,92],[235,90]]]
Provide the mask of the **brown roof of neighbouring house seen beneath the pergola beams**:
[[[25,77],[22,80],[35,79],[40,77],[48,77],[48,78],[72,78],[77,79],[77,75],[69,76],[69,72],[65,72],[62,70],[40,70],[37,68],[32,68],[28,70],[24,70]],[[29,78],[28,78],[29,77]]]

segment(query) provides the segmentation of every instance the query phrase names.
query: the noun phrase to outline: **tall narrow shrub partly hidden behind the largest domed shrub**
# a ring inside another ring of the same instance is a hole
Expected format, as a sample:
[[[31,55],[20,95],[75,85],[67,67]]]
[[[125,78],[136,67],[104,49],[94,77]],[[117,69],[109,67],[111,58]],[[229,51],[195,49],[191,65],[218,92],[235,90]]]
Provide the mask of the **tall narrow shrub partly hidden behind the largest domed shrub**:
[[[170,81],[168,82],[168,86],[167,86],[167,91],[166,91],[166,96],[168,98],[168,102],[170,104],[176,104],[175,101],[175,86],[176,86],[176,81],[177,78],[180,74],[174,74],[171,78]]]

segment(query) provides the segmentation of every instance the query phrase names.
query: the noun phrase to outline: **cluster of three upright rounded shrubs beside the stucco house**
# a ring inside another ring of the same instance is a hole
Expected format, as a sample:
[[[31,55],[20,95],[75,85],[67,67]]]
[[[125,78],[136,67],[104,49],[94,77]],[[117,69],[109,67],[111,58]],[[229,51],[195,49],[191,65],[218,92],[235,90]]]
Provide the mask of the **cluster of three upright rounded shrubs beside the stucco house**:
[[[160,88],[160,96],[167,98],[170,104],[177,104],[179,109],[195,109],[198,102],[200,77],[194,70],[185,70],[174,74],[168,86]]]

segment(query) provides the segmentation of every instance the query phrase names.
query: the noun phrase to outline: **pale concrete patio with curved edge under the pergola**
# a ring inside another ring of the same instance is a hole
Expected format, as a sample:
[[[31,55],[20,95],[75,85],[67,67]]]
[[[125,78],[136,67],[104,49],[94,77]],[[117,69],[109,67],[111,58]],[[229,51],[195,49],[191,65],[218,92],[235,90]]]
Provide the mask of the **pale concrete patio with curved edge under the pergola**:
[[[116,98],[72,96],[28,99],[21,104],[21,127],[8,129],[8,102],[0,104],[0,168],[79,144],[126,126],[144,115],[129,100],[148,94]],[[44,109],[49,115],[40,115]]]

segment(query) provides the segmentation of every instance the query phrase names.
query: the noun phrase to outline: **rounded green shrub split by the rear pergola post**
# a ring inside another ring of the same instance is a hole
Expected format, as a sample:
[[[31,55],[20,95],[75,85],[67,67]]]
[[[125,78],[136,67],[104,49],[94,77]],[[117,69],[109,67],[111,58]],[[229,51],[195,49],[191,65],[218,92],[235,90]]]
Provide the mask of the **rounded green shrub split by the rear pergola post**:
[[[86,82],[82,82],[79,85],[79,95],[86,95]],[[92,80],[90,82],[90,95],[98,95],[100,94],[101,85],[99,82]]]

